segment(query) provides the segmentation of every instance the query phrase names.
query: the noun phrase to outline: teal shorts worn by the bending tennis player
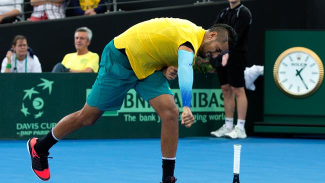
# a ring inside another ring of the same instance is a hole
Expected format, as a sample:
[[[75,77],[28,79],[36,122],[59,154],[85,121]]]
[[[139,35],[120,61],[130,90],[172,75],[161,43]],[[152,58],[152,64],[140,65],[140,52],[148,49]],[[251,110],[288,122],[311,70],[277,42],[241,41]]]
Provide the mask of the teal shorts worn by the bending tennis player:
[[[172,94],[162,71],[138,79],[127,57],[115,48],[111,40],[102,52],[98,76],[87,97],[87,103],[102,111],[118,110],[131,88],[146,101],[161,94]]]

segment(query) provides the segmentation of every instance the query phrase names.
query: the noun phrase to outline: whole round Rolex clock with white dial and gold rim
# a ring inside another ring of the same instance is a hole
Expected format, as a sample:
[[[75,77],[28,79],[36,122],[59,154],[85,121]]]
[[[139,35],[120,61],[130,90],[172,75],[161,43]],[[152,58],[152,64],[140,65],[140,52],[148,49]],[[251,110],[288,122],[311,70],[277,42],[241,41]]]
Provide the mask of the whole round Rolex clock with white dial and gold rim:
[[[323,80],[323,64],[316,53],[305,47],[291,47],[276,59],[273,77],[277,87],[293,97],[314,93]]]

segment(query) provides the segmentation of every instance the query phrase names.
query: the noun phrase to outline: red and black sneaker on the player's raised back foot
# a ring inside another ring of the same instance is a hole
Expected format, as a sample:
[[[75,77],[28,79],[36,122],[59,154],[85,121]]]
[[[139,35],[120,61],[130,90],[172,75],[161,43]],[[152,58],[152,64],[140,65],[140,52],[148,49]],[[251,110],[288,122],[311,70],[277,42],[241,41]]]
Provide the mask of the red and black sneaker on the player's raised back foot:
[[[47,158],[52,157],[47,157],[49,153],[41,154],[35,151],[34,146],[36,144],[36,139],[37,138],[30,138],[27,141],[27,150],[31,159],[31,169],[38,178],[46,181],[50,177]]]

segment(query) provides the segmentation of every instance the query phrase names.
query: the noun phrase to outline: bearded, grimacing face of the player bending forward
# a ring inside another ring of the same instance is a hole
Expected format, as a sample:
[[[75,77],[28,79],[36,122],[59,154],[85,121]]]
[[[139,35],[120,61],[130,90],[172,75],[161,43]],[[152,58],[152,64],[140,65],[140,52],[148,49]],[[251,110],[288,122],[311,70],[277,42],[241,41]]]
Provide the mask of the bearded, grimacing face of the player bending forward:
[[[228,42],[220,43],[217,40],[208,40],[201,44],[198,55],[201,58],[212,57],[228,53]]]

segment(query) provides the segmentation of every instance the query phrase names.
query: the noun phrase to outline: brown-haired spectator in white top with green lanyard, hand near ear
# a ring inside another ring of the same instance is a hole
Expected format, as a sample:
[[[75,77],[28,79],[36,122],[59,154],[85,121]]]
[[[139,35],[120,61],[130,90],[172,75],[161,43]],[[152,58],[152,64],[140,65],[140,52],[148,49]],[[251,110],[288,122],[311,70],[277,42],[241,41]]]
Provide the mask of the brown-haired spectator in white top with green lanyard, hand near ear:
[[[2,60],[1,72],[41,72],[41,66],[36,55],[28,47],[23,35],[16,35]]]

